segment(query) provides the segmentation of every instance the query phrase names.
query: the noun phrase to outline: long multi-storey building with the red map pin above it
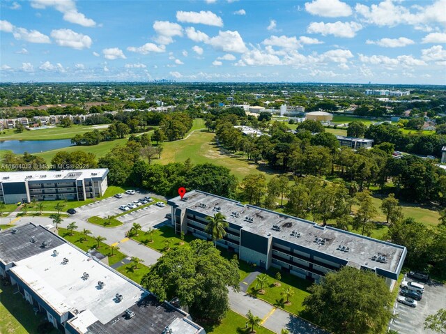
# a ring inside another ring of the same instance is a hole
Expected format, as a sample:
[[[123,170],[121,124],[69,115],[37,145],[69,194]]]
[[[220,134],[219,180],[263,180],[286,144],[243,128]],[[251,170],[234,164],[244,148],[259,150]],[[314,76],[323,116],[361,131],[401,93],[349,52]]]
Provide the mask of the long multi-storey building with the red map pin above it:
[[[342,266],[370,270],[389,287],[398,279],[407,250],[400,245],[335,229],[224,197],[192,190],[171,205],[171,223],[181,231],[210,239],[207,217],[220,212],[229,227],[219,245],[261,268],[275,267],[318,281]]]

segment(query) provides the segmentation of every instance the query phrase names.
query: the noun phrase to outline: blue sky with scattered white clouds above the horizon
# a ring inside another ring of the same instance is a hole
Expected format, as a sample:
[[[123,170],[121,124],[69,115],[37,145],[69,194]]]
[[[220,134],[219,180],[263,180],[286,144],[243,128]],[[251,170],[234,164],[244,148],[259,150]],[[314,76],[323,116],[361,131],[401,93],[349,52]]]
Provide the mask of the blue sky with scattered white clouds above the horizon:
[[[446,84],[446,0],[2,0],[0,69],[0,82]]]

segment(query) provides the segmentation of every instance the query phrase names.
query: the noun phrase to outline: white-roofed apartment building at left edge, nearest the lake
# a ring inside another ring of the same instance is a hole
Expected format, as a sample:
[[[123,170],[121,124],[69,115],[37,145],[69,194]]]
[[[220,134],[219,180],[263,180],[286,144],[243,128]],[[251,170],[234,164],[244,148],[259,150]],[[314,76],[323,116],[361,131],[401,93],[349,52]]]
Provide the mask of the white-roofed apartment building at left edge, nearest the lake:
[[[107,190],[107,168],[0,172],[0,202],[70,200],[100,197]]]

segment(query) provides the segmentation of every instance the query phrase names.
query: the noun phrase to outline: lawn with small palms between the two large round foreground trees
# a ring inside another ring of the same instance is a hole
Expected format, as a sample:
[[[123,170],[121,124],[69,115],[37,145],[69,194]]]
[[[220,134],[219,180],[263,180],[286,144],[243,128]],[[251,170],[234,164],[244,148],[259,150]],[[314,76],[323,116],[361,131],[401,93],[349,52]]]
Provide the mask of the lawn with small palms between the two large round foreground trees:
[[[259,294],[260,287],[256,287],[256,280],[249,285],[248,292],[257,298],[263,299],[275,305],[279,308],[283,308],[284,310],[291,312],[293,314],[300,315],[302,312],[302,302],[304,301],[306,296],[309,296],[308,287],[312,285],[312,282],[309,280],[302,280],[302,278],[298,278],[295,275],[291,275],[289,273],[280,272],[282,275],[282,279],[280,280],[280,287],[275,287],[274,283],[277,282],[275,279],[275,273],[277,273],[277,269],[270,269],[266,275],[268,275],[268,284],[263,289],[266,291],[265,294]],[[294,295],[290,296],[289,301],[291,305],[285,305],[286,297],[281,295],[282,289],[286,287],[291,287],[294,291]]]

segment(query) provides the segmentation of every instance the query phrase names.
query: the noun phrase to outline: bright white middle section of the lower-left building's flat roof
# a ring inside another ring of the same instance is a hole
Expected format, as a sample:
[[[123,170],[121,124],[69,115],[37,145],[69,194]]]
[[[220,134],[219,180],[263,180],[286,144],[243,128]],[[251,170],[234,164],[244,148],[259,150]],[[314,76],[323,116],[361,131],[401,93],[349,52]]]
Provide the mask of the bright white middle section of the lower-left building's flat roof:
[[[63,264],[64,258],[68,259],[67,264]],[[52,305],[56,312],[77,314],[89,310],[94,316],[91,321],[102,324],[107,324],[147,294],[137,284],[68,243],[16,264],[10,272]],[[83,279],[84,273],[88,273],[89,278]],[[102,289],[98,281],[105,283]],[[116,294],[121,294],[123,300],[118,301]]]

